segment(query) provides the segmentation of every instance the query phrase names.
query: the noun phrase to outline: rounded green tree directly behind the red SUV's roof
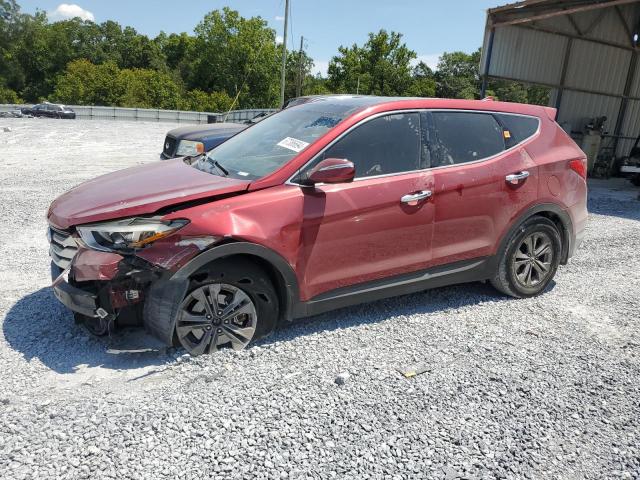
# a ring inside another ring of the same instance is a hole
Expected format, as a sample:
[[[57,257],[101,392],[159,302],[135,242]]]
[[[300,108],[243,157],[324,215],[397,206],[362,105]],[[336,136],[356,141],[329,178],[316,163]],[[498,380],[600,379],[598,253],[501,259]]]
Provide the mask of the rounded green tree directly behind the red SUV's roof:
[[[328,85],[335,92],[406,95],[413,82],[411,62],[416,53],[402,43],[402,34],[370,33],[364,46],[340,47],[331,59]]]

